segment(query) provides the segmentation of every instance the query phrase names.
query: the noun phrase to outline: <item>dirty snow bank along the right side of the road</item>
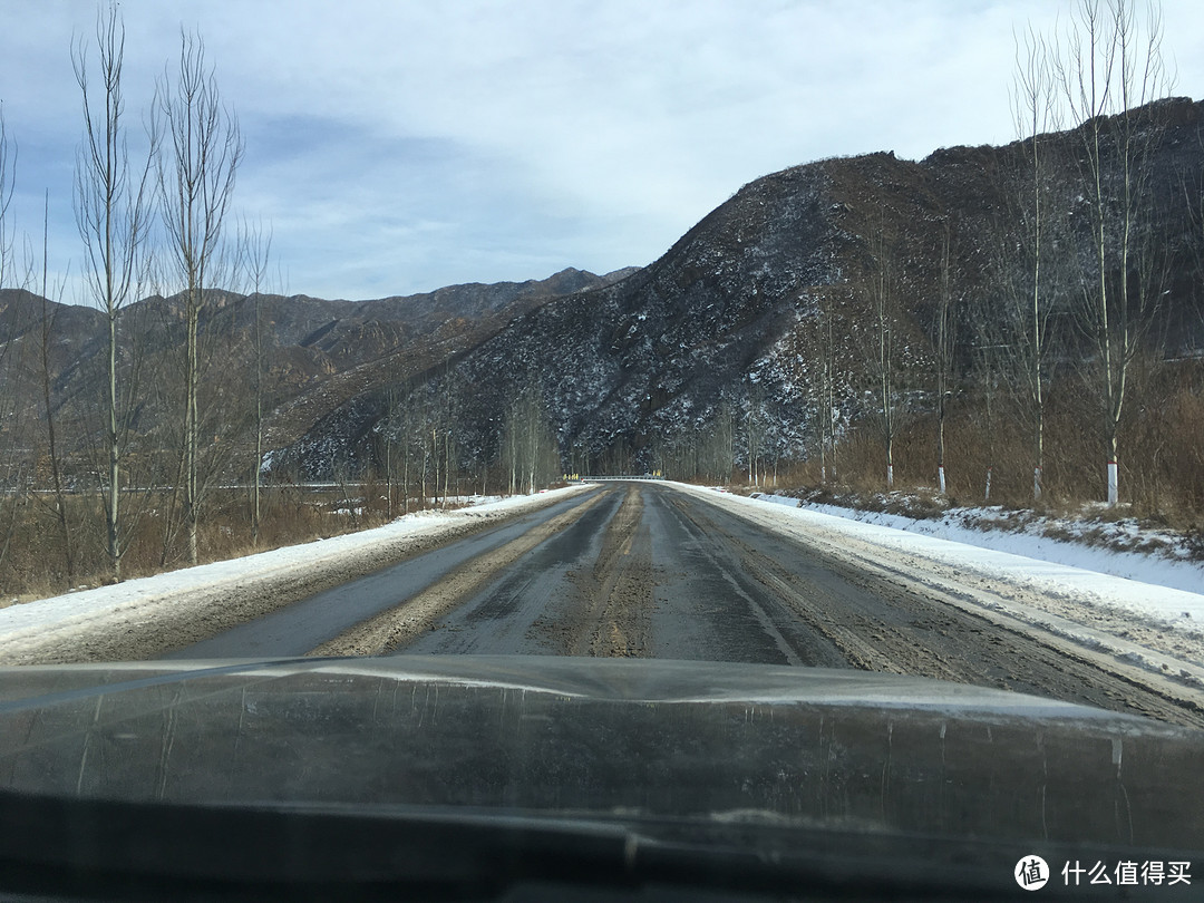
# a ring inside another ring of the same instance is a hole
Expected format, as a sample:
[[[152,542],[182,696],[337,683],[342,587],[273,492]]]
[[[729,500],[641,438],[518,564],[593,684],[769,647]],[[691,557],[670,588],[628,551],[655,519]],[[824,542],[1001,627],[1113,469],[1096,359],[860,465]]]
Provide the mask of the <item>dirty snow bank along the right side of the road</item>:
[[[1017,537],[1008,535],[984,539],[978,531],[969,531],[967,538],[978,543],[970,545],[899,529],[913,525],[909,518],[896,526],[891,515],[862,519],[863,512],[798,508],[793,498],[749,498],[678,485],[822,554],[881,573],[1009,630],[1038,636],[1073,655],[1094,657],[1115,673],[1128,668],[1129,679],[1204,706],[1204,595],[1165,585],[1186,583],[1204,589],[1204,573],[1197,565],[1158,555],[1141,560],[1132,553],[1084,549],[1092,555],[1081,561],[1144,578],[1139,580],[1038,557],[1050,550],[1040,543],[1017,544]],[[773,501],[778,503],[767,503]],[[991,539],[1033,554],[984,548]],[[1194,579],[1192,568],[1199,574]],[[1139,672],[1145,677],[1138,677]]]

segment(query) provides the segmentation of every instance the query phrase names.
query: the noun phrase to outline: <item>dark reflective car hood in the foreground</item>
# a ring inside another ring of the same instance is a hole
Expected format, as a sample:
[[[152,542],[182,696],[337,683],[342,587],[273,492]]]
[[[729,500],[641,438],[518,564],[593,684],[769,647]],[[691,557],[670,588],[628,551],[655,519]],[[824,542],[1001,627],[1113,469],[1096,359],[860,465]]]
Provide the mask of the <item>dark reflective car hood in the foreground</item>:
[[[0,668],[0,787],[1204,849],[1204,733],[840,669],[541,656]]]

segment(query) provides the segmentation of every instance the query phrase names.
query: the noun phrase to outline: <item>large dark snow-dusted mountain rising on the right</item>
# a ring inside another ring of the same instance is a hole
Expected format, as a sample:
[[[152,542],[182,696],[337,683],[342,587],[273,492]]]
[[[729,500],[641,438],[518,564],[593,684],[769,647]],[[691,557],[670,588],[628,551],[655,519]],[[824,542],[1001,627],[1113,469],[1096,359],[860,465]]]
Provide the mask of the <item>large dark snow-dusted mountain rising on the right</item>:
[[[1156,331],[1170,336],[1168,354],[1198,353],[1204,295],[1194,253],[1204,237],[1197,216],[1204,105],[1170,99],[1132,116],[1159,135],[1143,183],[1156,211],[1147,225],[1165,252],[1167,297]],[[1041,138],[1052,160],[1047,191],[1055,250],[1046,266],[1063,279],[1080,278],[1070,264],[1090,258],[1090,217],[1078,182],[1085,128]],[[448,412],[444,420],[454,420],[448,429],[466,462],[500,460],[498,412],[532,384],[563,466],[573,470],[649,470],[672,449],[692,445],[697,453],[716,435],[734,447],[728,461],[746,462],[754,418],[760,423],[756,454],[805,458],[808,443],[814,449],[819,405],[798,347],[821,306],[838,324],[839,413],[846,424],[873,413],[874,401],[866,397],[873,385],[867,364],[873,341],[866,334],[873,319],[870,282],[881,256],[877,242],[890,248],[899,299],[895,329],[902,336],[903,403],[931,409],[926,380],[943,236],[948,229],[962,332],[957,367],[966,377],[975,342],[982,344],[972,326],[996,320],[1004,329],[1001,282],[1023,278],[1019,260],[1009,258],[1019,258],[1014,252],[1023,241],[1025,153],[1022,142],[940,149],[920,161],[877,153],[756,179],[654,264],[532,306],[462,354],[445,355],[442,370],[405,393],[427,411]],[[1184,203],[1185,195],[1197,205]],[[1061,290],[1069,300],[1051,312],[1061,324],[1057,353],[1063,356],[1082,353],[1085,341],[1069,311],[1078,290],[1067,285]],[[325,473],[330,460],[362,466],[379,458],[388,414],[380,391],[370,389],[332,409],[276,461],[311,476]]]

